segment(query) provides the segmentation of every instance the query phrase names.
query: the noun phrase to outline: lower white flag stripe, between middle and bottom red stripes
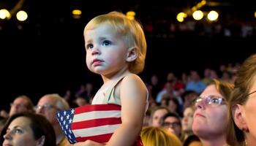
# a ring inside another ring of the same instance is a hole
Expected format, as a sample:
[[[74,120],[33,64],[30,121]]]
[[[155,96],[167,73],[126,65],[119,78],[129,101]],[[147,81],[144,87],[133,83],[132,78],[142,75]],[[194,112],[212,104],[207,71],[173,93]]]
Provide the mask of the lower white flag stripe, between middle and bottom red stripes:
[[[107,125],[107,126],[97,126],[93,128],[81,128],[77,130],[72,130],[75,137],[91,137],[101,134],[110,134],[116,131],[120,124],[116,125]]]

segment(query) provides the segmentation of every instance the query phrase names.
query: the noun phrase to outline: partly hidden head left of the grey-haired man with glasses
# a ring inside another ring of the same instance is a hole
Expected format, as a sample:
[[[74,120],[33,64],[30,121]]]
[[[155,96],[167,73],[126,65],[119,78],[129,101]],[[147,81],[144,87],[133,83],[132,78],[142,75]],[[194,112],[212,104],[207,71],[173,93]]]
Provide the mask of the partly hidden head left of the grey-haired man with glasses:
[[[28,96],[18,96],[10,105],[9,116],[20,112],[34,112],[34,104]]]

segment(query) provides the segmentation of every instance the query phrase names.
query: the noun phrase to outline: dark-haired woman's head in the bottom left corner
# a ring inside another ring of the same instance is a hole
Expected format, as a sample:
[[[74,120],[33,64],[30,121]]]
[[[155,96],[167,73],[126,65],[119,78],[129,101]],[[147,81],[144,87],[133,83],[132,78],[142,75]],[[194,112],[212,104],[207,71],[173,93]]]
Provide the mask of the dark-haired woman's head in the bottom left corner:
[[[1,132],[0,145],[56,146],[56,137],[46,118],[23,112],[8,119]]]

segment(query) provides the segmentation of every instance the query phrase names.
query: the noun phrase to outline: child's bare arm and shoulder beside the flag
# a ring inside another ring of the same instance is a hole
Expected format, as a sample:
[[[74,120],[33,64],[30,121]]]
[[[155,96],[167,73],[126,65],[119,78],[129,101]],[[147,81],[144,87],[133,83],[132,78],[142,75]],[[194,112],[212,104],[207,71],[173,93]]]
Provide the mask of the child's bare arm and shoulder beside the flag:
[[[121,126],[107,145],[131,146],[140,135],[146,108],[147,91],[143,81],[135,74],[129,74],[121,82]]]

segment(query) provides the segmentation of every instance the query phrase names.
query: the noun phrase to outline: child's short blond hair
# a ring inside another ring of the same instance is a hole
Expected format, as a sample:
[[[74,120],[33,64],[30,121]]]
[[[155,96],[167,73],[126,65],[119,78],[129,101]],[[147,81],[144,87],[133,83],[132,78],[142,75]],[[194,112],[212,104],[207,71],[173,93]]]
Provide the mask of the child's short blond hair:
[[[127,47],[136,47],[138,57],[128,65],[130,72],[138,74],[143,71],[146,58],[146,38],[143,28],[137,20],[129,20],[121,12],[109,12],[99,15],[87,23],[84,32],[97,28],[102,24],[109,24],[116,32],[124,37]]]

